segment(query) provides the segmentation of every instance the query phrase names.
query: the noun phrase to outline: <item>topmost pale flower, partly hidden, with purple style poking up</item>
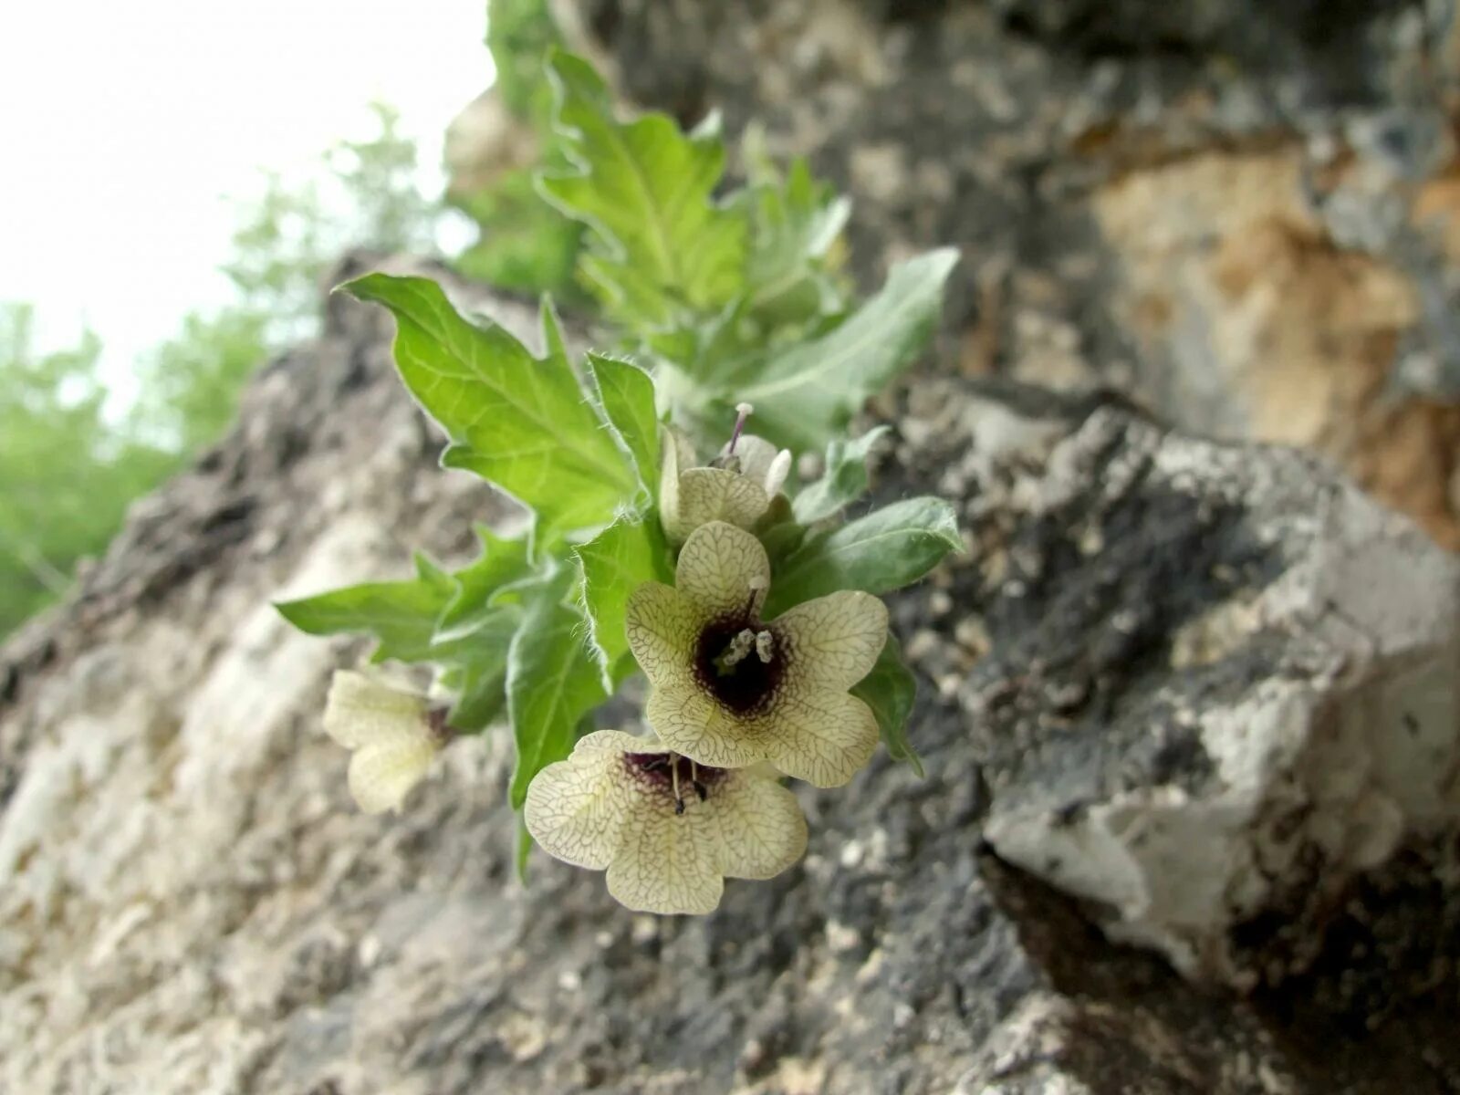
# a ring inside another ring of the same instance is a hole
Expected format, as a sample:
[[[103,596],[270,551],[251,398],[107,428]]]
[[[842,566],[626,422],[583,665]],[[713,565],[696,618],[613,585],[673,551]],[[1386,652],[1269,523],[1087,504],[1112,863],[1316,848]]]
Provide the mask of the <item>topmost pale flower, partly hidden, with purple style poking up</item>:
[[[791,454],[753,434],[737,435],[708,467],[695,466],[695,450],[683,434],[661,432],[658,512],[672,543],[707,521],[750,529],[765,517],[791,467]]]

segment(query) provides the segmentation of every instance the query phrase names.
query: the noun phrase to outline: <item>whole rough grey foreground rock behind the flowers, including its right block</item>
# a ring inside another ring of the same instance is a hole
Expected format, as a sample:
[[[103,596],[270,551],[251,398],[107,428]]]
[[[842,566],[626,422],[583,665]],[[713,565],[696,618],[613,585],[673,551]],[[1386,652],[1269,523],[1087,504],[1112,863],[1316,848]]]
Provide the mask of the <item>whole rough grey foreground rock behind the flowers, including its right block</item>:
[[[327,336],[264,372],[238,429],[139,508],[77,599],[4,648],[0,1089],[1456,1089],[1460,910],[1440,826],[1453,680],[1415,711],[1413,742],[1294,720],[1288,797],[1283,769],[1256,771],[1272,739],[1238,743],[1231,723],[1238,692],[1261,726],[1283,705],[1377,699],[1442,656],[1429,628],[1453,564],[1400,518],[1291,453],[1183,439],[1110,400],[914,388],[879,492],[949,491],[977,537],[894,603],[926,675],[929,777],[879,756],[847,791],[799,788],[802,864],[731,883],[712,917],[637,917],[602,877],[540,857],[515,882],[501,734],[453,746],[400,818],[350,806],[318,711],[352,650],[292,634],[267,600],[403,571],[416,542],[463,555],[472,520],[512,514],[431,469],[387,324],[331,307]],[[978,445],[950,457],[975,419]],[[1405,564],[1349,588],[1374,574],[1365,550]],[[1342,613],[1314,602],[1326,590]],[[1269,626],[1253,629],[1254,606]],[[1362,762],[1333,788],[1323,733]],[[1396,790],[1380,761],[1425,748],[1435,762]],[[1111,806],[1126,794],[1134,816],[1178,791],[1193,818],[1232,802],[1206,840],[1234,860],[1186,898],[1120,844]],[[1242,889],[1238,851],[1278,847],[1279,807],[1304,794],[1318,803],[1294,828],[1307,850]],[[1130,892],[1037,854],[1069,842],[1048,816],[1076,796],[1091,845],[1061,854],[1118,853]],[[1240,910],[1222,904],[1234,886]],[[1202,972],[1291,975],[1245,1000],[1200,990],[1088,915],[1178,961],[1178,943],[1210,943],[1225,965]],[[1263,917],[1278,930],[1254,929]]]

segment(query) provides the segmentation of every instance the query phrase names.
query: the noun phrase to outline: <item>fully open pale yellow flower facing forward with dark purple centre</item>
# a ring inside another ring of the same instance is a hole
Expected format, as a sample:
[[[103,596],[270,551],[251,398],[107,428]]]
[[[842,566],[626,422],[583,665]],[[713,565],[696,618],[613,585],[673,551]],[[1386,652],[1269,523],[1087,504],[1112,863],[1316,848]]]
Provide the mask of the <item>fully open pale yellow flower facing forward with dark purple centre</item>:
[[[651,686],[645,718],[699,764],[769,761],[840,787],[877,745],[876,717],[847,689],[876,663],[888,610],[842,590],[762,622],[769,577],[755,536],[711,521],[685,542],[673,587],[634,590],[628,639]]]

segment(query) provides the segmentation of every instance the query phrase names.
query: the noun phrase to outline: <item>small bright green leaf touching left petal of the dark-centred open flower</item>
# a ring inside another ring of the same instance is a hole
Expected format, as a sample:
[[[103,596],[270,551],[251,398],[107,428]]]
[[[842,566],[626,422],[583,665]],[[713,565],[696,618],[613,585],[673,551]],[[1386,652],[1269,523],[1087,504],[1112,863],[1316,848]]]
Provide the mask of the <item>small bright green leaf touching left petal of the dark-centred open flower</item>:
[[[593,645],[610,689],[634,672],[625,634],[629,594],[645,581],[675,581],[658,514],[626,514],[577,549]]]

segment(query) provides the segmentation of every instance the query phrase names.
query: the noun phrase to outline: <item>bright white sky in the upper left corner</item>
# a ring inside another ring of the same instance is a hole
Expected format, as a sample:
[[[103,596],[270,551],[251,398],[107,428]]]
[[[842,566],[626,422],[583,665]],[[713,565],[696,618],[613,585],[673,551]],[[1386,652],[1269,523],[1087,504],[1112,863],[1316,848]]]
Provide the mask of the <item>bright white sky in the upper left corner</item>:
[[[304,172],[402,112],[439,191],[447,123],[491,80],[486,0],[0,1],[0,299],[44,349],[83,323],[139,352],[226,302],[216,266],[257,168]]]

